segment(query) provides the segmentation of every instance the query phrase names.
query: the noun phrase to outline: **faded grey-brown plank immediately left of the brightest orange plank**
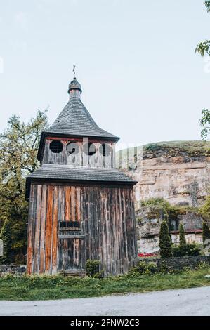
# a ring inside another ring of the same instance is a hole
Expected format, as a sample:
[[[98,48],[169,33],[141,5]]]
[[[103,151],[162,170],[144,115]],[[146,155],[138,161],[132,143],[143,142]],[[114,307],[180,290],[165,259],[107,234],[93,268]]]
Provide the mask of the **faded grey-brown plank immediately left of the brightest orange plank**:
[[[47,186],[42,186],[42,199],[41,199],[41,229],[40,229],[40,251],[39,251],[39,274],[45,271],[45,229],[46,229],[46,199],[47,199]]]

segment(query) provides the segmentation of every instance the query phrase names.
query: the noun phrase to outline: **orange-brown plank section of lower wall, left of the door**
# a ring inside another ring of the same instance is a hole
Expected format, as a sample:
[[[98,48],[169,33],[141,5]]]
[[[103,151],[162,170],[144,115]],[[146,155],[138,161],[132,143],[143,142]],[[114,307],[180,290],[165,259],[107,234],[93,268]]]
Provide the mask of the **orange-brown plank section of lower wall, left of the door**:
[[[58,189],[53,185],[31,186],[27,249],[29,275],[57,272]]]

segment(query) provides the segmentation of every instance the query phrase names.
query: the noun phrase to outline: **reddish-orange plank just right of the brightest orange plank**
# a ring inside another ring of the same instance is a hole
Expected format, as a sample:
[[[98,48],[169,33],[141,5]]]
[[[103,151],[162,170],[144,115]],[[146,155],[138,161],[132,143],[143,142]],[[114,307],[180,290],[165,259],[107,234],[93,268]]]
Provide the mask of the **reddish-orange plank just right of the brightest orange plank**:
[[[57,250],[58,250],[58,187],[53,192],[53,229],[52,229],[52,274],[57,272]]]

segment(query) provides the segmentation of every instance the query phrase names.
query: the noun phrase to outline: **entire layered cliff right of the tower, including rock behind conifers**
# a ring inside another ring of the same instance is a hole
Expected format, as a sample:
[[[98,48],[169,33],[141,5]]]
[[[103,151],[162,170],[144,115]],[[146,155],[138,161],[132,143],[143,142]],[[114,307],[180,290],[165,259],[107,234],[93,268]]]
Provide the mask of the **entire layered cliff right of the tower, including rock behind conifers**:
[[[142,149],[123,150],[119,167],[138,181],[135,186],[138,255],[159,251],[159,229],[164,213],[159,206],[141,207],[150,198],[164,198],[172,205],[199,206],[209,192],[210,143],[183,141],[153,143]],[[183,223],[187,242],[202,243],[202,217],[186,212],[169,219],[171,239],[178,244],[178,224]]]

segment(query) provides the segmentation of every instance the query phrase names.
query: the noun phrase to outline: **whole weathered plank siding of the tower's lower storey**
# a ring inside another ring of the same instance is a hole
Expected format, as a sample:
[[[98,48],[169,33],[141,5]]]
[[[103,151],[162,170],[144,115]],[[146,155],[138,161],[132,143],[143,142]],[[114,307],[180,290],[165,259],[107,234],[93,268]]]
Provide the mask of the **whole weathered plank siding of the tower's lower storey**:
[[[32,184],[27,272],[84,270],[90,258],[105,275],[122,274],[135,262],[135,233],[130,187]]]

